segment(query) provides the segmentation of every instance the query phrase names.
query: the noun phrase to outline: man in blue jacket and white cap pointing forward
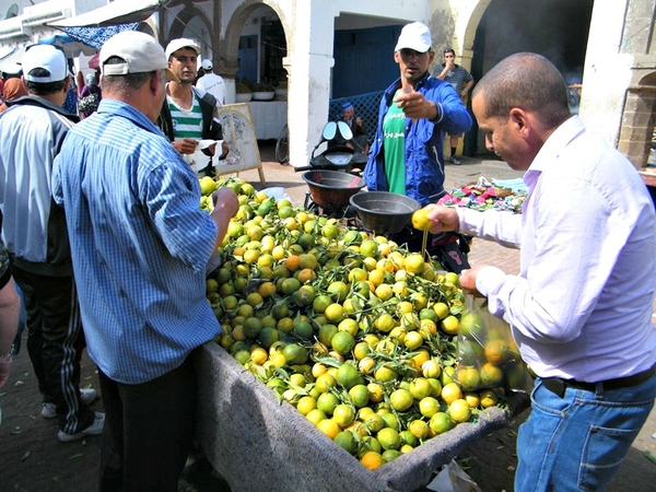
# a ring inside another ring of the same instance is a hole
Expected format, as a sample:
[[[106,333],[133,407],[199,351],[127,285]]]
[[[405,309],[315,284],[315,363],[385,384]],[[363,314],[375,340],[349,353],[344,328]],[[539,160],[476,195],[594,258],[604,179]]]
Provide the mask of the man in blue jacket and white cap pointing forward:
[[[364,169],[370,191],[407,195],[421,206],[435,203],[445,194],[445,132],[462,133],[472,122],[455,89],[431,77],[432,44],[431,31],[421,22],[401,30],[394,50],[400,78],[380,99],[378,127]],[[411,229],[397,239],[421,250],[423,237]],[[449,257],[440,259],[448,261]]]

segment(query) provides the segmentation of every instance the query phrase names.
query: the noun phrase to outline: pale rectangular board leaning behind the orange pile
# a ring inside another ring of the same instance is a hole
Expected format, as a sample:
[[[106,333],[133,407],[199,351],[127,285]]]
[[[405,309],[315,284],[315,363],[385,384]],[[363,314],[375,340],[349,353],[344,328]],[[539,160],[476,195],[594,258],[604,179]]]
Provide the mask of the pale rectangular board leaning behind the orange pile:
[[[214,160],[216,176],[233,173],[238,175],[239,171],[257,169],[263,186],[262,161],[248,104],[220,106],[216,109],[215,118],[223,126],[223,140],[230,148],[230,152],[223,161]]]

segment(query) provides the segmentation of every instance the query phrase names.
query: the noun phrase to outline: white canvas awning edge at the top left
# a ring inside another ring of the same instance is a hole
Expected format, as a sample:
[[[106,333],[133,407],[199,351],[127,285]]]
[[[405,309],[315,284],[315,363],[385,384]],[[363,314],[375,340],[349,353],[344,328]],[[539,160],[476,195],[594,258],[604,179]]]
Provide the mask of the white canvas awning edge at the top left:
[[[150,17],[167,0],[115,0],[107,5],[73,17],[48,23],[52,27],[106,27]]]

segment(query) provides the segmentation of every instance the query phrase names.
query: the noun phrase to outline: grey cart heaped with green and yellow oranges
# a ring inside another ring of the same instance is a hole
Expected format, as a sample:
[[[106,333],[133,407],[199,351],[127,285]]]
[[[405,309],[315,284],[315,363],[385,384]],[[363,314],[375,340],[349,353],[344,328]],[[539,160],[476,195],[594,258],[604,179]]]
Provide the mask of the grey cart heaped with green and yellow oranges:
[[[237,178],[200,184],[201,208],[220,186],[241,204],[207,279],[223,333],[196,358],[199,445],[231,490],[418,490],[526,408],[507,326],[457,274]]]

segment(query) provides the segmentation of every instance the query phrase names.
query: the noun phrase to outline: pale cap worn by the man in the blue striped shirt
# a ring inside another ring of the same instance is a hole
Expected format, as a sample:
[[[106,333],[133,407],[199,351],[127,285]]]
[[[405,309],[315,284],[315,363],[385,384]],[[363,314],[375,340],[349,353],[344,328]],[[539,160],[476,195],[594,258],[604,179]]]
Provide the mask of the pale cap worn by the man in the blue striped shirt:
[[[106,65],[112,57],[126,60],[122,63]],[[112,36],[102,47],[98,58],[103,75],[127,75],[166,70],[169,80],[177,79],[168,70],[168,59],[164,48],[150,34],[139,31],[124,31]]]

